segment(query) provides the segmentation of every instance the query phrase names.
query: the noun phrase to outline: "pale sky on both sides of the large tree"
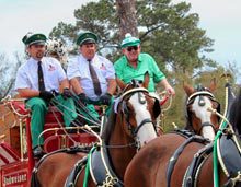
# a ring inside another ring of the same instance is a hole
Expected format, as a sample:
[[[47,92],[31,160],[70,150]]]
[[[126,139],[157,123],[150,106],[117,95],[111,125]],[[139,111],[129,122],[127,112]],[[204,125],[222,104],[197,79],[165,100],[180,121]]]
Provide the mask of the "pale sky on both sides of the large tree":
[[[94,1],[94,0],[92,0]],[[173,3],[182,0],[173,0]],[[199,27],[215,40],[207,57],[241,69],[241,0],[185,0],[199,14]],[[58,22],[74,23],[73,11],[90,0],[0,0],[0,52],[24,51],[27,32],[49,34]]]

